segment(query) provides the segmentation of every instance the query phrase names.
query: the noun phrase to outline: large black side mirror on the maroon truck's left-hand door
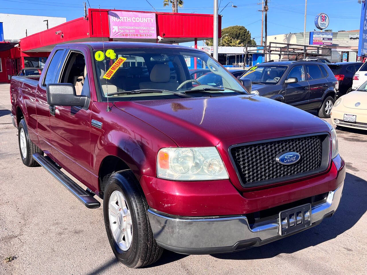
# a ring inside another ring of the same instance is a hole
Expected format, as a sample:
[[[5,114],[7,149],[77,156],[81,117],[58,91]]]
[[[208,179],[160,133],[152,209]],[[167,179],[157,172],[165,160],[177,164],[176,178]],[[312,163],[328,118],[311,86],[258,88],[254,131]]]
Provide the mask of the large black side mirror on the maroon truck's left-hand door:
[[[76,95],[75,86],[70,83],[48,84],[46,95],[50,106],[84,107],[88,99],[86,95]]]

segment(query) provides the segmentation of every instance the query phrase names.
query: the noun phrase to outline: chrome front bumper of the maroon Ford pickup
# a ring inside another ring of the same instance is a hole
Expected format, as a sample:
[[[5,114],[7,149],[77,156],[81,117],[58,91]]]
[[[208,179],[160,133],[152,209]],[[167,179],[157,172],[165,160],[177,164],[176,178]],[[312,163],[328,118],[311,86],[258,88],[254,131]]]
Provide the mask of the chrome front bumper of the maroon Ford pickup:
[[[326,202],[312,207],[310,227],[321,223],[324,217],[334,214],[343,186],[344,184],[330,191]],[[285,237],[279,235],[279,219],[250,225],[246,215],[182,219],[163,216],[152,209],[148,210],[148,216],[157,243],[165,249],[183,254],[233,252]]]

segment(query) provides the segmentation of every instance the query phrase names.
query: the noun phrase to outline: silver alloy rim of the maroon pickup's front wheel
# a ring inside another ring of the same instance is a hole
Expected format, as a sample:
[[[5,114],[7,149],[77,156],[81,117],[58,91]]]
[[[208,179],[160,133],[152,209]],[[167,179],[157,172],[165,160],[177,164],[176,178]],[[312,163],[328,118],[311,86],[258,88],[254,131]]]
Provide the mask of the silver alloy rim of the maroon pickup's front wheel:
[[[115,242],[121,250],[128,250],[132,243],[131,213],[122,192],[112,192],[108,202],[110,228]]]

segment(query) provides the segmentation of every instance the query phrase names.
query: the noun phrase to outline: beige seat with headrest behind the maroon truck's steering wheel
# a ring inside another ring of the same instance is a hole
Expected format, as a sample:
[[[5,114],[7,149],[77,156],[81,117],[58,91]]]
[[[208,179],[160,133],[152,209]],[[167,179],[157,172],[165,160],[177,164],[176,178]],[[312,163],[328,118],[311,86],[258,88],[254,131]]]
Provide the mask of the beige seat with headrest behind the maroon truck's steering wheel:
[[[161,89],[174,91],[178,87],[177,82],[170,81],[170,67],[167,64],[154,65],[150,72],[150,81],[139,83],[140,89]]]

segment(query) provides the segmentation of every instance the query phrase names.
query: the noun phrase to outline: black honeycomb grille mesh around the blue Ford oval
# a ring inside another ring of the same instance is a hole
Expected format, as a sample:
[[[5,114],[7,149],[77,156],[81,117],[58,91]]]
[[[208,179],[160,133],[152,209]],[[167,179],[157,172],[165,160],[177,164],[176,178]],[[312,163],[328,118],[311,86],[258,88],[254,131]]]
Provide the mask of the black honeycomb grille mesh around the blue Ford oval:
[[[322,162],[324,137],[305,136],[232,147],[232,154],[243,185],[261,185],[266,181],[281,181],[287,176],[299,176],[315,170]],[[293,165],[282,165],[276,156],[287,151],[297,152],[301,159]]]

